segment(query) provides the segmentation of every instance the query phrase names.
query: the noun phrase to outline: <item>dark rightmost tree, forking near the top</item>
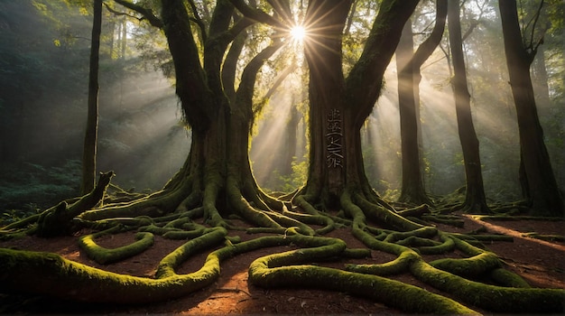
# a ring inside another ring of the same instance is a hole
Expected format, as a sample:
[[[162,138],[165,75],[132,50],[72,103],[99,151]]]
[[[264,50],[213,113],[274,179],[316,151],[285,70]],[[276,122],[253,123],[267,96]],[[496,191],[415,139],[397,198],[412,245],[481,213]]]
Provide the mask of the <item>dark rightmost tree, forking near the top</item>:
[[[523,196],[537,214],[562,216],[565,207],[555,181],[547,148],[543,141],[542,125],[533,94],[530,67],[542,44],[534,39],[535,21],[531,36],[521,32],[515,0],[499,1],[505,42],[506,64],[514,97],[520,132],[521,183]],[[543,1],[538,15],[543,10]],[[535,42],[534,42],[535,41]]]

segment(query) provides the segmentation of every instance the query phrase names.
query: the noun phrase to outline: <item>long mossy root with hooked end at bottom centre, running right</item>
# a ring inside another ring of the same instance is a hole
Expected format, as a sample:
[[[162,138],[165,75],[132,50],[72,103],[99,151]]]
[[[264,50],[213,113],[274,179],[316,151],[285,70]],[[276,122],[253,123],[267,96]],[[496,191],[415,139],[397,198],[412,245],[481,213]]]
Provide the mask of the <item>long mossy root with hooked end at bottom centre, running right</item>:
[[[278,266],[299,263],[312,249],[264,256],[249,267],[249,281],[265,288],[307,286],[345,291],[407,312],[477,314],[477,311],[417,286],[370,274],[357,274],[315,265]]]

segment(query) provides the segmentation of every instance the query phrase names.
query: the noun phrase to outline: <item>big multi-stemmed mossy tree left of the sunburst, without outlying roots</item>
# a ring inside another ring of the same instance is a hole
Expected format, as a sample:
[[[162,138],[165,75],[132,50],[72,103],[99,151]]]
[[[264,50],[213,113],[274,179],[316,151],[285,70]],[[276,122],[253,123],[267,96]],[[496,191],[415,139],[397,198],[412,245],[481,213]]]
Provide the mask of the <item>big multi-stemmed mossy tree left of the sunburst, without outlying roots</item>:
[[[244,13],[256,12],[242,1],[233,2]],[[242,55],[245,46],[238,43],[241,38],[246,45],[254,42],[246,37],[245,30],[257,21],[275,25],[278,32],[288,30],[284,25],[290,23],[267,14],[260,14],[257,20],[242,17],[227,0],[218,0],[206,9],[194,3],[186,6],[179,0],[162,0],[161,14],[154,14],[151,6],[127,0],[116,3],[140,14],[140,19],[162,29],[166,36],[174,64],[176,93],[192,131],[191,147],[183,167],[162,191],[139,203],[108,206],[83,217],[166,213],[202,206],[204,218],[215,226],[229,225],[224,219],[228,212],[270,228],[282,228],[277,221],[292,221],[271,212],[281,210],[282,202],[258,188],[248,158],[257,73],[285,42],[278,36],[278,40],[275,38],[249,59]],[[281,13],[290,12],[287,5],[274,7]],[[228,66],[242,57],[248,60],[244,68]]]

